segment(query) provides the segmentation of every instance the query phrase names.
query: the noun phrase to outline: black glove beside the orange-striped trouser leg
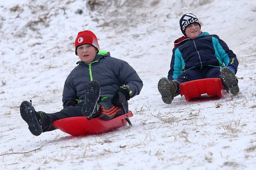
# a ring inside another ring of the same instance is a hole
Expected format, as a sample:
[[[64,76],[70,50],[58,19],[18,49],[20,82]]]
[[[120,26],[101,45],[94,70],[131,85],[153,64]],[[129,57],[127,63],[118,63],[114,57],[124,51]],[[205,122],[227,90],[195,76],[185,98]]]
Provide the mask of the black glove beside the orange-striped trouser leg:
[[[125,101],[130,100],[130,98],[129,89],[127,86],[122,86],[116,91],[116,94],[113,96],[111,102],[115,106],[122,107],[125,104]]]

